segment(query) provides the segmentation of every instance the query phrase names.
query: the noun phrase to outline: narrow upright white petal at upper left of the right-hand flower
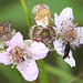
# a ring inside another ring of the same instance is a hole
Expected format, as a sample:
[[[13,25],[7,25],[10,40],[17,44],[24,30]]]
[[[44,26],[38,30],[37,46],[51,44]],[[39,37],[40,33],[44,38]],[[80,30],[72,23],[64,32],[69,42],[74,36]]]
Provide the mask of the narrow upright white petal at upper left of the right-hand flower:
[[[54,22],[55,22],[55,25],[56,25],[56,33],[60,33],[61,32],[61,24],[62,24],[62,19],[56,14],[54,13]]]

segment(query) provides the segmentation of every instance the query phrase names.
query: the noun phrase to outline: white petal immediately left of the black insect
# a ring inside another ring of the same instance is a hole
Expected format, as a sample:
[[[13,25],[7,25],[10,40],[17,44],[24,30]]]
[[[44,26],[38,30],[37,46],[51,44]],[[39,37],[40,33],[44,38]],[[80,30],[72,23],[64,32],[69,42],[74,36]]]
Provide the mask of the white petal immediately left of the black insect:
[[[63,56],[63,54],[64,54],[64,45],[62,44],[61,40],[55,40],[55,41],[53,42],[53,44],[54,44],[55,51],[56,51],[60,55]]]

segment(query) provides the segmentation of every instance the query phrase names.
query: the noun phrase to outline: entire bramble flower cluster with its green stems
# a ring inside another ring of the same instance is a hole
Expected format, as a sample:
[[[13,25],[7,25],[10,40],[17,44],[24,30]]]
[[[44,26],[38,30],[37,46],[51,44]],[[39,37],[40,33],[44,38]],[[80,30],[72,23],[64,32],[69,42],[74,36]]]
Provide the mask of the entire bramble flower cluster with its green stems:
[[[64,8],[60,15],[56,13],[52,15],[46,4],[39,3],[32,8],[34,19],[31,20],[24,0],[21,0],[21,3],[27,17],[30,39],[23,40],[21,32],[11,28],[10,21],[1,22],[0,63],[11,64],[11,69],[15,66],[29,82],[38,83],[40,80],[41,83],[49,83],[42,59],[50,51],[56,51],[71,68],[75,66],[71,48],[74,50],[83,44],[83,27],[73,23],[72,8]]]

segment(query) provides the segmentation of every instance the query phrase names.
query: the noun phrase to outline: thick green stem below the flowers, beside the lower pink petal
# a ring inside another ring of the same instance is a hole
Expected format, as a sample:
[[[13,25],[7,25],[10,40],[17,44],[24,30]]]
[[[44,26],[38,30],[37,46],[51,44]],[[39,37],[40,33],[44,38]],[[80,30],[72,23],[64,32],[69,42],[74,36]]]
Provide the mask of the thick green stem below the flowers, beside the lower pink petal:
[[[39,60],[38,61],[38,66],[39,66],[39,80],[40,80],[40,83],[49,83],[48,82],[48,74],[46,74],[46,71],[45,71],[45,65],[44,65],[44,61],[43,60]]]

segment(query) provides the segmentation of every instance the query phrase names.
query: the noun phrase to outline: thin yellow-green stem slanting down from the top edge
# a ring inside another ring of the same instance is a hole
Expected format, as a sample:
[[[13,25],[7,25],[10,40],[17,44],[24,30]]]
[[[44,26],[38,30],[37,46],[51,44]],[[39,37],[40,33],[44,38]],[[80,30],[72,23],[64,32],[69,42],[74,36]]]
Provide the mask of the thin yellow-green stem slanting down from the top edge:
[[[30,29],[31,28],[31,19],[30,19],[29,11],[27,9],[27,4],[25,4],[24,0],[21,0],[21,4],[23,7],[23,10],[24,10],[24,13],[27,17],[28,28]]]

